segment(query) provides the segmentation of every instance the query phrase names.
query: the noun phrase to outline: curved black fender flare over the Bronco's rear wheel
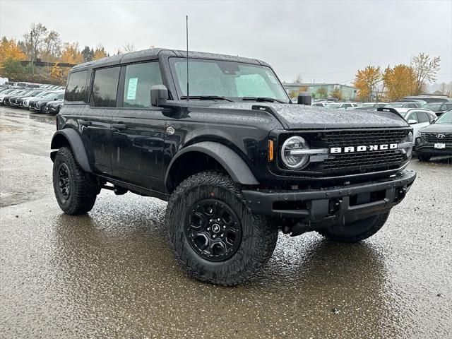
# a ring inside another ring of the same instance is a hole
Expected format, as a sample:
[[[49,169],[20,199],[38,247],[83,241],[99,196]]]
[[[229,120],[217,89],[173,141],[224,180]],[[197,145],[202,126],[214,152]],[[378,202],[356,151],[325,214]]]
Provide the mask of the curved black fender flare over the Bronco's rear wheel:
[[[66,142],[65,142],[66,141]],[[92,173],[90,162],[88,160],[88,155],[86,154],[85,145],[83,145],[82,138],[80,134],[75,129],[61,129],[54,133],[52,137],[52,143],[50,144],[50,148],[52,150],[56,150],[61,148],[64,145],[71,146],[72,153],[74,157],[76,157],[76,162],[85,172]],[[52,151],[50,153],[50,158],[52,161],[55,160],[55,156],[57,155],[57,151]]]

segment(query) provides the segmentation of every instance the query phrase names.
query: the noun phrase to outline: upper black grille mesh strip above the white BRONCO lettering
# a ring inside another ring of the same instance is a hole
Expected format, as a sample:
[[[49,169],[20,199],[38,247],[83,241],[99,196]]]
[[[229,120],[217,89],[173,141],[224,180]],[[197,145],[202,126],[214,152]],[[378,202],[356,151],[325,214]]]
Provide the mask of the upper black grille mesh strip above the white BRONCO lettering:
[[[378,131],[331,131],[324,132],[321,139],[328,147],[357,145],[376,145],[382,143],[400,143],[408,130],[388,129]]]

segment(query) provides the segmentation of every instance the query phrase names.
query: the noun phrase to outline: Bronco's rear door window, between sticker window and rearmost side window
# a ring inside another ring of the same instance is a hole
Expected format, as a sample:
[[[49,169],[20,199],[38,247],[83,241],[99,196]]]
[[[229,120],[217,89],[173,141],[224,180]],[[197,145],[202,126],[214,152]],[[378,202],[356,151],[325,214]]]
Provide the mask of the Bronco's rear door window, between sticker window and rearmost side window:
[[[95,107],[116,107],[119,81],[119,67],[97,69],[94,73],[93,94],[90,105]]]

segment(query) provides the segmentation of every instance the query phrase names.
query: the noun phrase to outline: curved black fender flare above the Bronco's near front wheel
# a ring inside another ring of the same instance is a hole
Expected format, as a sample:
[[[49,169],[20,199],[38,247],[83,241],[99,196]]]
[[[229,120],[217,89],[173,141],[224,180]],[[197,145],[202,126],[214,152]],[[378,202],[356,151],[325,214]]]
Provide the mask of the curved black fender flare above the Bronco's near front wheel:
[[[234,182],[243,185],[258,185],[258,181],[254,174],[249,169],[246,162],[240,157],[234,150],[223,145],[222,143],[215,143],[213,141],[202,141],[201,143],[195,143],[194,145],[189,145],[186,148],[182,148],[174,157],[171,162],[169,162],[167,172],[165,174],[165,186],[168,184],[169,172],[172,168],[174,162],[185,153],[188,152],[201,152],[206,155],[213,157],[216,161],[222,165],[226,172],[231,176]]]

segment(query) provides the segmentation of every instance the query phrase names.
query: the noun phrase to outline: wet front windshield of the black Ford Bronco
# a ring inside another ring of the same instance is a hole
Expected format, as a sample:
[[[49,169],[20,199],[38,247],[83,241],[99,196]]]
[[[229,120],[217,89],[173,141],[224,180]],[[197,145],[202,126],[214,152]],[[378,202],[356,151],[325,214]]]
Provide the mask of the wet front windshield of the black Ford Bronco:
[[[182,96],[186,96],[186,59],[170,58]],[[218,96],[232,100],[268,97],[290,102],[275,73],[266,66],[234,61],[189,59],[189,95]]]

